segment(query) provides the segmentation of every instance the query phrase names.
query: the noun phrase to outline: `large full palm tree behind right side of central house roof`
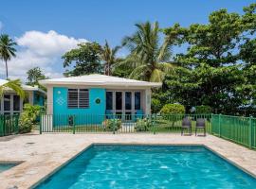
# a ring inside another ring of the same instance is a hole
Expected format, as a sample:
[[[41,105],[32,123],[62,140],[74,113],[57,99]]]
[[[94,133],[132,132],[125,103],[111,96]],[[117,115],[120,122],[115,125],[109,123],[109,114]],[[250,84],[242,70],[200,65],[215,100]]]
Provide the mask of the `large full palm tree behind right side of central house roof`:
[[[157,22],[153,26],[150,22],[136,26],[137,31],[122,41],[122,45],[126,46],[131,54],[118,64],[133,67],[131,78],[160,82],[165,73],[174,67],[170,63],[171,51],[169,47],[163,48],[163,45],[159,45]]]

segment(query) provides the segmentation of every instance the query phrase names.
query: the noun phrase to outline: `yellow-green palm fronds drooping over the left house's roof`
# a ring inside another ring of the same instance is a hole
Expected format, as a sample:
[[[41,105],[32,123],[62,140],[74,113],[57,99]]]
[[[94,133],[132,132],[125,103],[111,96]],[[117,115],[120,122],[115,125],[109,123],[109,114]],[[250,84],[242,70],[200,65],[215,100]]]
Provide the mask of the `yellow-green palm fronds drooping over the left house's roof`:
[[[0,85],[0,99],[4,94],[4,91],[8,89],[11,89],[14,92],[16,92],[16,94],[18,94],[21,98],[25,98],[25,92],[22,89],[20,79],[8,80],[3,85]]]

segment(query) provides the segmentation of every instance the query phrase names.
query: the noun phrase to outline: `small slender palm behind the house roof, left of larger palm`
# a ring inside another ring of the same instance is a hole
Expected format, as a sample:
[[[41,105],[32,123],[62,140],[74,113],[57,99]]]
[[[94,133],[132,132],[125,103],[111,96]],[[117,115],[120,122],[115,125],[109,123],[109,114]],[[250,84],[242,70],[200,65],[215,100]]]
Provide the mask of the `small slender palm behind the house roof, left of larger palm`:
[[[102,60],[104,60],[104,74],[107,76],[112,75],[112,66],[118,61],[116,58],[116,54],[119,51],[119,48],[120,46],[111,48],[107,41],[102,48],[101,58]]]

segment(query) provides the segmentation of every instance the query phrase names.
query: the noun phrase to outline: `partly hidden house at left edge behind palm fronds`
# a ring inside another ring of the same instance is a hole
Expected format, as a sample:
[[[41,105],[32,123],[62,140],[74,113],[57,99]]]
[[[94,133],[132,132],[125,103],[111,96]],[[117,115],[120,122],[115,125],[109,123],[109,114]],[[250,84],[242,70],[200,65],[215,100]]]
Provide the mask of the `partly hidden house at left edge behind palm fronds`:
[[[0,86],[6,84],[8,80],[0,79]],[[26,98],[22,99],[11,89],[6,89],[0,98],[0,114],[16,114],[23,110],[23,105],[29,103],[31,105],[45,105],[46,92],[38,88],[38,86],[22,85],[26,93]]]

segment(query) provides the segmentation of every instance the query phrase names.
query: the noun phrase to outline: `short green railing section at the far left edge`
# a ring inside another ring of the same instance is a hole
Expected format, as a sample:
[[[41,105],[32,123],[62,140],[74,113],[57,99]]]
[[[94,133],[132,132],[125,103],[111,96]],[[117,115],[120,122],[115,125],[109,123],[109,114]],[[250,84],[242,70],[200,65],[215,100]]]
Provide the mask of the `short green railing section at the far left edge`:
[[[19,132],[19,115],[0,115],[0,136]]]

